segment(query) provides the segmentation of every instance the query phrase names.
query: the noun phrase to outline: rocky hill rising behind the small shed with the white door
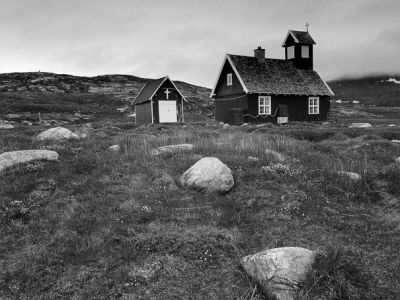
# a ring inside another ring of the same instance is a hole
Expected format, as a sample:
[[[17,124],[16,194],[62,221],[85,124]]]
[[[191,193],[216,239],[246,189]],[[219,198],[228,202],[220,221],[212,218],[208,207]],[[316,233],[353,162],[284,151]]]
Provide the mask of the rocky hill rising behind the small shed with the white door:
[[[0,106],[8,112],[103,112],[128,106],[149,80],[132,75],[73,76],[46,72],[0,74]],[[187,98],[186,111],[212,113],[211,90],[176,81]],[[0,108],[1,110],[1,108]],[[1,112],[1,111],[0,111]]]

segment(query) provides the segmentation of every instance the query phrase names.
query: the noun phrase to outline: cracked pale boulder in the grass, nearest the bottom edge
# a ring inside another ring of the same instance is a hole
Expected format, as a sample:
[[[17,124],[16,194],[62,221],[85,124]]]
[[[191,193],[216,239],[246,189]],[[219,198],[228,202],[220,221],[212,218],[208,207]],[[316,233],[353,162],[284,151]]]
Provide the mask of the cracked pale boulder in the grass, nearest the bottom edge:
[[[245,272],[277,300],[292,300],[314,262],[314,252],[300,247],[264,250],[241,259]]]

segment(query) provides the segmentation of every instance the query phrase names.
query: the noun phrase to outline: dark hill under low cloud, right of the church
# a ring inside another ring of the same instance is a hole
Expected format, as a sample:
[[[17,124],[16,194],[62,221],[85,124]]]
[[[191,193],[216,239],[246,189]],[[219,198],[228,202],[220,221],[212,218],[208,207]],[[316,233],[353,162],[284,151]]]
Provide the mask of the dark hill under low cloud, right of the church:
[[[342,78],[328,82],[335,99],[358,100],[361,104],[400,106],[400,75]]]

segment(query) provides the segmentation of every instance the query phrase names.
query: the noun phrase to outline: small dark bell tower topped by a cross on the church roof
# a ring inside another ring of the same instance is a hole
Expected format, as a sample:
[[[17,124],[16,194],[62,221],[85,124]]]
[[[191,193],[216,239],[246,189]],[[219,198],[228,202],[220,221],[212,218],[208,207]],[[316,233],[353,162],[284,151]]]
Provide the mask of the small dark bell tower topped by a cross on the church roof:
[[[285,59],[292,60],[299,69],[313,70],[313,45],[311,35],[307,31],[289,30],[282,47],[285,48]]]

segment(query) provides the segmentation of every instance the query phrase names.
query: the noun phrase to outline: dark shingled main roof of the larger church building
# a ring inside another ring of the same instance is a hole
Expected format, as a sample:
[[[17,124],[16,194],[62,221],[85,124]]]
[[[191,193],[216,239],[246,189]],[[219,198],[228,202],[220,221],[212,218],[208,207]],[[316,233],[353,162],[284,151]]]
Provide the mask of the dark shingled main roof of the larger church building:
[[[247,93],[334,95],[317,72],[298,69],[292,61],[267,58],[259,62],[255,57],[232,54],[226,59]]]

